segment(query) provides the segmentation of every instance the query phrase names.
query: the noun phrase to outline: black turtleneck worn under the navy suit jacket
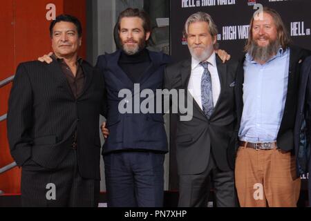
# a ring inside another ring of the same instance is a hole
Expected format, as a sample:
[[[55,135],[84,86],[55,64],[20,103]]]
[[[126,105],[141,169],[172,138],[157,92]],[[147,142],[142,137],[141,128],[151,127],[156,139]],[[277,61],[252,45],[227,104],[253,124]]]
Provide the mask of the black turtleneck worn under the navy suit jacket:
[[[118,64],[124,73],[129,76],[129,79],[131,79],[134,84],[137,84],[150,66],[151,59],[146,48],[135,55],[126,55],[126,53],[122,51]]]

